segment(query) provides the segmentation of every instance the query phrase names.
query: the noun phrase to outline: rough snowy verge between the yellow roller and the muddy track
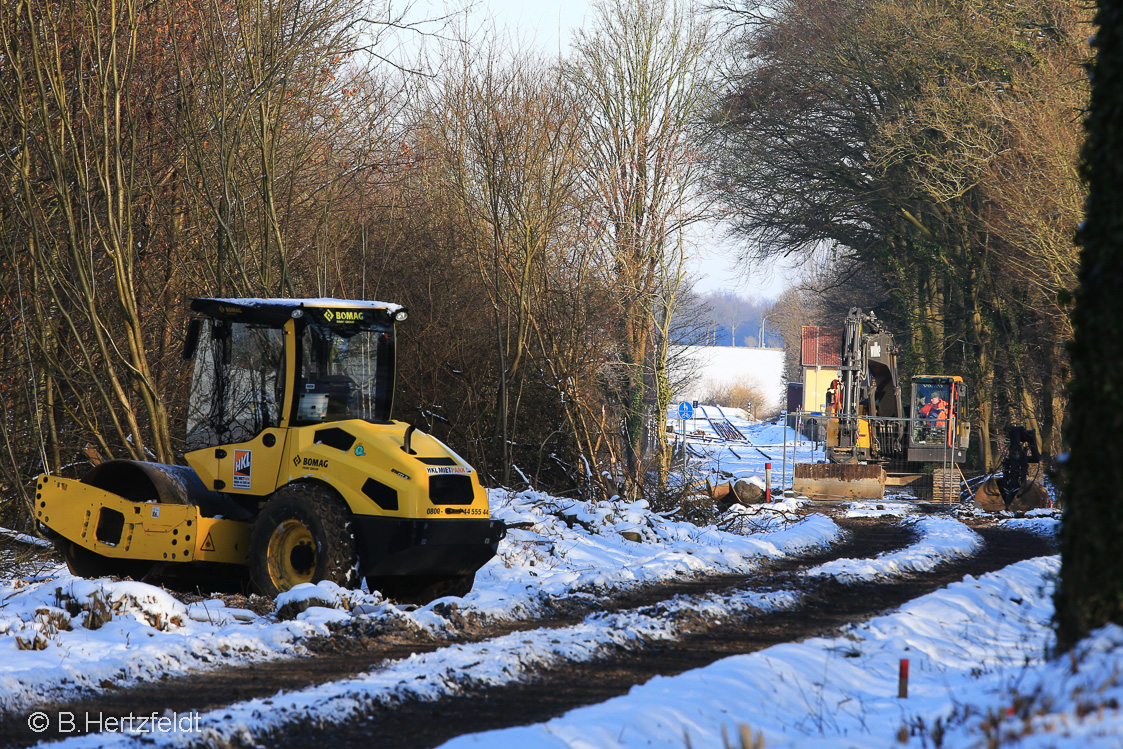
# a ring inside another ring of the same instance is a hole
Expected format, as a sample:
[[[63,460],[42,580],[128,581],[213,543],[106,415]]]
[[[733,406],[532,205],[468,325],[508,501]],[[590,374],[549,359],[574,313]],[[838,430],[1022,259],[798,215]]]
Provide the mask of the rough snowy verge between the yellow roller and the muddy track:
[[[279,621],[229,609],[218,599],[185,605],[152,585],[86,581],[57,567],[0,583],[0,710],[12,712],[110,684],[300,654],[302,640],[326,636],[330,623],[355,616],[439,637],[455,631],[464,618],[529,619],[559,599],[682,576],[749,572],[761,559],[839,538],[838,526],[825,515],[789,521],[797,505],[796,500],[775,504],[757,518],[751,536],[741,536],[664,519],[645,501],[493,492],[493,515],[514,528],[455,612],[436,603],[410,610],[377,593],[321,583],[280,596],[276,611],[302,600],[317,605]],[[629,540],[626,532],[641,541]]]

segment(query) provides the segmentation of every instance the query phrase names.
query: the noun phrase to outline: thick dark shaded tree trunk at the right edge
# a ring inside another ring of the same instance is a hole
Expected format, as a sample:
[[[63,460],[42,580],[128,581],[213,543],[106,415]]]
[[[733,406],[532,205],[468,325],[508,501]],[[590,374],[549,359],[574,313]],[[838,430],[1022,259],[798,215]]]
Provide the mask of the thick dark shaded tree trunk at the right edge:
[[[1087,218],[1078,234],[1079,287],[1072,312],[1071,445],[1066,466],[1057,645],[1123,624],[1123,2],[1101,0],[1097,55],[1083,174]]]

